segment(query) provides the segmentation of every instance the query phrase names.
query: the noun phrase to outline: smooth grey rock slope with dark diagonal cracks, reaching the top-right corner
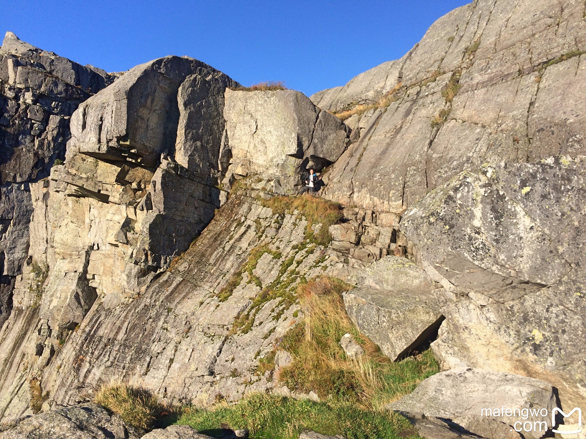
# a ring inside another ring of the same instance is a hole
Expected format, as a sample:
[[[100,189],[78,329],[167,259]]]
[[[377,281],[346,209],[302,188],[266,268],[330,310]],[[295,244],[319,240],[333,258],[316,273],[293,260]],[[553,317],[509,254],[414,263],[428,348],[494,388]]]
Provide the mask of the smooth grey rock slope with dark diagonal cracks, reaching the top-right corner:
[[[347,119],[360,140],[333,166],[326,197],[400,214],[485,162],[584,153],[584,50],[582,2],[455,9],[400,60],[312,96],[329,111],[376,104]]]

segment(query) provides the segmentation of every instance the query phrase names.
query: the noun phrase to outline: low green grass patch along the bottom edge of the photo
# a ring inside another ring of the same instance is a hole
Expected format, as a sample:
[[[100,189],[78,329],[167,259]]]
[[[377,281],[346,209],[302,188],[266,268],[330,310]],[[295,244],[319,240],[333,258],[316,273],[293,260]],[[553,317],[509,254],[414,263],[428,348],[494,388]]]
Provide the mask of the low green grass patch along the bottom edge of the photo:
[[[222,428],[247,428],[252,439],[295,439],[305,429],[349,439],[418,437],[409,421],[398,414],[343,402],[316,403],[261,393],[251,393],[234,405],[185,408],[178,424],[214,437],[222,437]]]

